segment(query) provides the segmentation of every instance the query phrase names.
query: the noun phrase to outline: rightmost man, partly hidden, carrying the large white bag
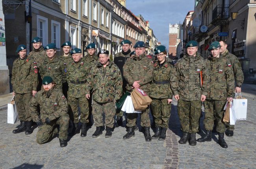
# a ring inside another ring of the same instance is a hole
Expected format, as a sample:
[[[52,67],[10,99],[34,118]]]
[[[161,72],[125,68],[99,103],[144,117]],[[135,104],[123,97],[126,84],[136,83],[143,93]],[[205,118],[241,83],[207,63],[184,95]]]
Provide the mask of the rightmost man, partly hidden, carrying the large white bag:
[[[221,45],[221,48],[220,48],[221,55],[224,58],[228,59],[232,65],[232,69],[235,76],[235,82],[236,82],[235,92],[241,93],[241,86],[243,84],[243,78],[244,78],[241,64],[235,55],[228,52],[227,50],[228,45],[226,44],[226,41],[221,40],[219,43]],[[225,132],[226,136],[233,136],[235,125],[230,125],[230,123],[225,123],[225,125],[226,125],[226,132]]]

